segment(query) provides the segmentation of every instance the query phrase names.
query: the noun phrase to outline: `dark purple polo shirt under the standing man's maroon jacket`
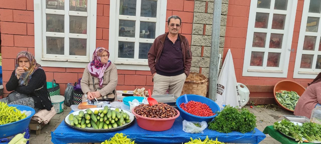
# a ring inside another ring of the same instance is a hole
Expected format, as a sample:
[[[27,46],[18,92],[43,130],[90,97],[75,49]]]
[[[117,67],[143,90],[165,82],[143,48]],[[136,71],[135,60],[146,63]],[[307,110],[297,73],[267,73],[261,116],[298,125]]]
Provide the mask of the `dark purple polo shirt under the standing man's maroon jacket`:
[[[184,73],[184,61],[179,36],[173,44],[166,36],[164,48],[156,62],[156,73],[162,76],[177,76]]]

